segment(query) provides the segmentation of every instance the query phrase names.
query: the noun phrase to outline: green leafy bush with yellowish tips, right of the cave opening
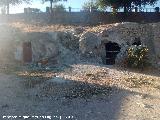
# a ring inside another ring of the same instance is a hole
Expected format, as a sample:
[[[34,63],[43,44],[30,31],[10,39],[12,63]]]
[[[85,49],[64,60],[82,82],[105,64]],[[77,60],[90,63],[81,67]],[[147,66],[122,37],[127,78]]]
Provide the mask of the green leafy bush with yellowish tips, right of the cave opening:
[[[148,48],[146,46],[131,46],[127,50],[127,66],[143,69],[149,64]]]

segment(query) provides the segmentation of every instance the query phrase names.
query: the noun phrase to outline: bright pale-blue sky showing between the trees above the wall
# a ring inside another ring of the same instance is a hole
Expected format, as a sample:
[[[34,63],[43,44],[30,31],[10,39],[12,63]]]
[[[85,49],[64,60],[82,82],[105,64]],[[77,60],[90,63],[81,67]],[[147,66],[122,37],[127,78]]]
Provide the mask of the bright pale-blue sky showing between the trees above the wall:
[[[88,0],[68,0],[67,2],[63,2],[66,8],[71,6],[72,8],[82,8],[82,5],[84,2]],[[59,2],[61,3],[61,2]],[[31,8],[39,8],[42,11],[45,11],[46,6],[49,6],[49,2],[46,2],[42,4],[42,0],[33,0],[32,4],[27,5],[27,4],[21,4],[17,6],[12,6],[10,8],[10,13],[22,13],[24,8],[31,7]],[[154,7],[160,6],[160,1],[155,4]],[[153,6],[146,6],[147,8],[153,8]]]

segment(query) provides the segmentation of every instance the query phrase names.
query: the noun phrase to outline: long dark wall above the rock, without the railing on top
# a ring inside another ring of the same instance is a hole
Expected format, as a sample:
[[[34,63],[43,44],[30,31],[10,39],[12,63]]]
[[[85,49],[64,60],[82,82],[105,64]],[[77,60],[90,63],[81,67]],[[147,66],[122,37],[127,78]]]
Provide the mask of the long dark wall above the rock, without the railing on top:
[[[131,12],[128,14],[109,12],[57,12],[49,13],[20,13],[0,15],[0,22],[25,21],[29,23],[63,23],[63,24],[99,24],[117,22],[160,22],[160,12]]]

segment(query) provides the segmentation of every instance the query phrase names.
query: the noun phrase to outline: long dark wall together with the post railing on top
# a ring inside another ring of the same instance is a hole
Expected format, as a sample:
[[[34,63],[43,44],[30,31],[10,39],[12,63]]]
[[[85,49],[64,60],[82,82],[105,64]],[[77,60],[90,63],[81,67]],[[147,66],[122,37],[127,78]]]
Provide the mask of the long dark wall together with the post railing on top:
[[[64,23],[64,24],[99,24],[115,22],[160,22],[160,10],[156,8],[132,9],[131,12],[119,10],[113,14],[111,9],[99,11],[96,9],[80,10],[78,8],[67,8],[50,14],[49,8],[46,12],[38,9],[25,8],[25,13],[0,15],[0,22],[25,21],[34,23]]]

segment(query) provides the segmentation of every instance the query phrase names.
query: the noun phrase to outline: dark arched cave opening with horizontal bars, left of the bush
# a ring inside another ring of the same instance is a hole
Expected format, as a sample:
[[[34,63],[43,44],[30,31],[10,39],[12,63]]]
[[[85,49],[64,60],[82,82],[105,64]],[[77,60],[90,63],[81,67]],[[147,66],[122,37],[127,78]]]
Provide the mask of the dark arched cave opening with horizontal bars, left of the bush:
[[[120,52],[121,47],[117,43],[108,42],[105,44],[106,50],[106,64],[115,64],[117,54]]]

